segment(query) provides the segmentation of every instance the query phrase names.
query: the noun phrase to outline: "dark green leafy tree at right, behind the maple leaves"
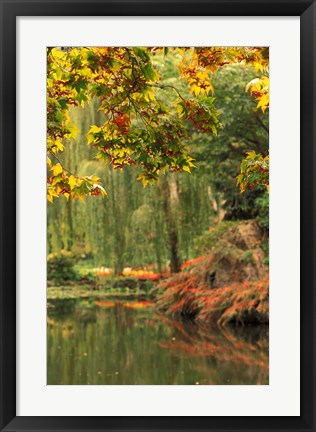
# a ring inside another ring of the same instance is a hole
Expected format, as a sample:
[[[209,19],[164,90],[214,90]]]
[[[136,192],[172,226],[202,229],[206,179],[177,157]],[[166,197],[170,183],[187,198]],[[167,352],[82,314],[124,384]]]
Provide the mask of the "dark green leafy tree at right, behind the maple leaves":
[[[240,193],[236,177],[247,152],[266,156],[269,149],[269,115],[256,110],[256,102],[244,92],[253,70],[241,65],[215,72],[212,81],[216,106],[223,128],[218,136],[192,129],[190,148],[197,165],[196,175],[207,176],[214,196],[225,211],[225,219],[253,219],[258,216],[255,200],[264,194],[262,186]]]

